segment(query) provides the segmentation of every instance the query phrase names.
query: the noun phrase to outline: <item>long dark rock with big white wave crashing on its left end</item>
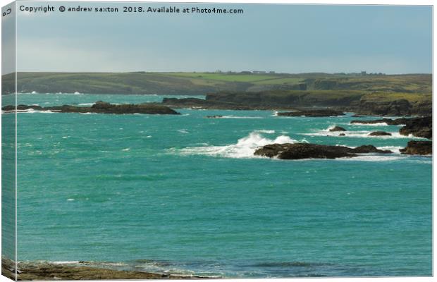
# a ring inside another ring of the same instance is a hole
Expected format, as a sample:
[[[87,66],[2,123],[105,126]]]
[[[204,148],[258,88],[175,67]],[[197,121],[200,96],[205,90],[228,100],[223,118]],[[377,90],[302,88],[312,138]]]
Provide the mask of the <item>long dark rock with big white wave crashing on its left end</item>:
[[[343,157],[357,157],[357,154],[392,153],[380,150],[372,145],[362,145],[354,149],[343,146],[316,145],[308,143],[271,144],[257,149],[256,156],[278,157],[278,159],[336,159]]]

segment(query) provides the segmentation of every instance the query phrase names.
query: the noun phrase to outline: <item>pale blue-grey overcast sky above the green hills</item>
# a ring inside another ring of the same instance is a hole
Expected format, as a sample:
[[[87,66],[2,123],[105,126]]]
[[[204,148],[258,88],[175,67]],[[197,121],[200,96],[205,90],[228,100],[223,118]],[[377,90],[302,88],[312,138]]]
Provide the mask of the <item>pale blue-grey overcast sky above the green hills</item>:
[[[233,15],[59,12],[163,6],[150,3],[18,1],[17,8],[47,4],[56,11],[16,13],[17,71],[432,73],[431,6],[165,5],[244,10]]]

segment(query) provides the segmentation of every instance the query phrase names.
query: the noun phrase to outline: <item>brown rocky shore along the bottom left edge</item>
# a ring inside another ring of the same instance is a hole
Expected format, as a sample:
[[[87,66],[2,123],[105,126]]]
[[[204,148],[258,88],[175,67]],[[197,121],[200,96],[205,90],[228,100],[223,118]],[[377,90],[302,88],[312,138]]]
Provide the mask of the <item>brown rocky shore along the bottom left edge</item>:
[[[86,262],[84,262],[86,264]],[[15,280],[15,269],[10,259],[1,259],[2,274]],[[6,270],[6,272],[4,272]],[[19,262],[17,280],[102,280],[102,279],[182,279],[212,278],[202,276],[182,276],[155,274],[142,271],[102,269],[91,266],[51,264],[48,262]]]

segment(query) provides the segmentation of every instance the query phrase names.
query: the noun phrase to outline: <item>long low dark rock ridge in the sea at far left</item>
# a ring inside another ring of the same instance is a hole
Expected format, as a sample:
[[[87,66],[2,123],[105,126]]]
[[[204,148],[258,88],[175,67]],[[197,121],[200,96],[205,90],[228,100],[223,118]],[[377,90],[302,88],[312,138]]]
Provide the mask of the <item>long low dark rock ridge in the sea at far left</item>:
[[[37,111],[56,111],[59,113],[96,113],[96,114],[180,114],[177,111],[162,106],[160,104],[144,103],[144,104],[122,104],[115,105],[107,102],[96,102],[92,106],[35,106],[35,105],[18,105],[17,110],[23,111],[34,109]],[[13,106],[4,106],[4,111],[14,111]]]

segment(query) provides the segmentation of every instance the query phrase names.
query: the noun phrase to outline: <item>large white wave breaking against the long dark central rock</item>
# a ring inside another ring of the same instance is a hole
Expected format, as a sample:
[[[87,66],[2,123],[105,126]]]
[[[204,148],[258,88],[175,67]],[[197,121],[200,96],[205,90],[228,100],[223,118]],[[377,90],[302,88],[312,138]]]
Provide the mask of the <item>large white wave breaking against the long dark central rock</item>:
[[[204,146],[204,147],[187,147],[180,150],[183,155],[206,155],[211,157],[227,157],[227,158],[264,158],[254,156],[254,152],[258,147],[269,144],[283,144],[307,142],[307,140],[294,140],[286,135],[280,135],[275,139],[269,139],[261,135],[261,133],[254,131],[238,140],[237,144],[226,146]]]

